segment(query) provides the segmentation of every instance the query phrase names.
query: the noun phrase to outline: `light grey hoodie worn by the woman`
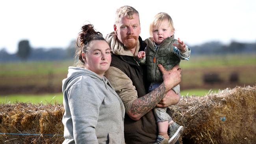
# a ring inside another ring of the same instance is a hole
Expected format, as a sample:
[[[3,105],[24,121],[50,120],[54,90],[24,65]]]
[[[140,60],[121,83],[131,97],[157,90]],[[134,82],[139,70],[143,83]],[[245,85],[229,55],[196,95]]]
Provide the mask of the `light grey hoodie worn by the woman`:
[[[124,105],[108,79],[70,66],[62,83],[63,144],[124,144]]]

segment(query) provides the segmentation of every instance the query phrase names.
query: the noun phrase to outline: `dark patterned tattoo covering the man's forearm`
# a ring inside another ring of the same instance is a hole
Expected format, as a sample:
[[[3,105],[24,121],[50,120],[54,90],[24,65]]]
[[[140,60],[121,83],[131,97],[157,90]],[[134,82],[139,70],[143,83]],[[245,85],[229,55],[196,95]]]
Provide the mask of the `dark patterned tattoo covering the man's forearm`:
[[[164,98],[165,90],[166,88],[162,83],[158,88],[135,100],[130,111],[132,114],[137,115],[137,118],[140,118],[144,114],[148,113],[148,111],[156,107],[156,105]]]

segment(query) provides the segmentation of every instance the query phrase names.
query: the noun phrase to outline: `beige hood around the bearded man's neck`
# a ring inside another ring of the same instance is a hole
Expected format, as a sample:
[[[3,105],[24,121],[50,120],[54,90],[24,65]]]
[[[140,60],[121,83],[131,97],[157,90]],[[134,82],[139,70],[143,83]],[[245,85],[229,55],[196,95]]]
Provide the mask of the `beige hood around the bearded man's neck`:
[[[122,44],[118,39],[117,35],[115,32],[111,32],[105,37],[106,41],[108,42],[110,48],[111,48],[111,53],[116,54],[116,55],[128,55],[132,57],[136,57],[137,53],[139,51],[139,40],[137,41],[137,46],[135,53],[132,54],[130,50],[128,50],[124,44]]]

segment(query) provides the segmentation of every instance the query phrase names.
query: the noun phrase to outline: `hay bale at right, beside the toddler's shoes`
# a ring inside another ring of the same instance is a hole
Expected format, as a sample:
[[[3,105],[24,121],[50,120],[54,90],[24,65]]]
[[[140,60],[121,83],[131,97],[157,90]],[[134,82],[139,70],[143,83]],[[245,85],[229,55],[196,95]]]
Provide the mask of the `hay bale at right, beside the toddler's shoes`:
[[[256,86],[182,97],[173,117],[185,127],[184,143],[256,143]]]

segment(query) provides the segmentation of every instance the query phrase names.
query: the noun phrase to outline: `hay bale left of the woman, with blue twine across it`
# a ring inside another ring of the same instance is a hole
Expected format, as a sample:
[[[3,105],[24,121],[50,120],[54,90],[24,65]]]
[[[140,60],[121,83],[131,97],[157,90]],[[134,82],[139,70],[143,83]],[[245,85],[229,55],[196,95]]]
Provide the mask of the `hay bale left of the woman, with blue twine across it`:
[[[0,133],[9,134],[0,135],[0,143],[61,144],[64,140],[63,114],[63,105],[57,103],[1,104]]]

